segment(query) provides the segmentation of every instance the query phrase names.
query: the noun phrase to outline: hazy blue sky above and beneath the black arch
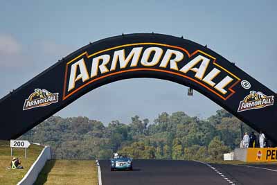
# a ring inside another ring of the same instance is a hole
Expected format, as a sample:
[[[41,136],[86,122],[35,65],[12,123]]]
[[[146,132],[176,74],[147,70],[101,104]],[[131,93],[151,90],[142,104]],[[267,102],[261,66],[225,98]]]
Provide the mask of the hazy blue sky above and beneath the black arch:
[[[0,97],[57,60],[122,33],[163,33],[219,53],[276,92],[277,1],[0,0]],[[161,112],[207,118],[221,107],[166,80],[129,79],[99,87],[55,115],[129,123]],[[133,97],[136,97],[134,99]]]

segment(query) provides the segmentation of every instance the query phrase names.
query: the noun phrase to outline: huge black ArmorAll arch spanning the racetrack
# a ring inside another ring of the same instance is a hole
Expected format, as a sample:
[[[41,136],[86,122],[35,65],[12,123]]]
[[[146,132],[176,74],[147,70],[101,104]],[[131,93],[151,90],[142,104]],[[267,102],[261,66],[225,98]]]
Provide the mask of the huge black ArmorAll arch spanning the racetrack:
[[[88,44],[3,97],[0,139],[15,139],[87,92],[127,78],[192,87],[277,141],[274,91],[205,46],[154,33]]]

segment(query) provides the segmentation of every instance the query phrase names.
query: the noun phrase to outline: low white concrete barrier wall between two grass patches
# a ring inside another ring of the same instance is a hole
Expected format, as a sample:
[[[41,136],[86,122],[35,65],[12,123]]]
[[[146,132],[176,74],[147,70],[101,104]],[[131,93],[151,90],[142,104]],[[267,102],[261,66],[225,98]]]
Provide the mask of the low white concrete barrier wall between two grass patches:
[[[35,163],[30,167],[24,178],[21,179],[17,185],[34,184],[40,171],[44,168],[46,161],[49,159],[51,159],[51,148],[50,146],[45,146],[39,157],[37,157]]]

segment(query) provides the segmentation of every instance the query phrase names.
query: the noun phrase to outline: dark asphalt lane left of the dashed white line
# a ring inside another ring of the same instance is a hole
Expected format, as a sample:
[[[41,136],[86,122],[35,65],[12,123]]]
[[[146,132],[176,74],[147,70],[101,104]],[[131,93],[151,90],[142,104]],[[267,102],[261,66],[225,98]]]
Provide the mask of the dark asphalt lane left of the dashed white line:
[[[133,171],[111,171],[109,165],[108,160],[100,161],[103,185],[229,184],[211,168],[195,161],[134,160]]]

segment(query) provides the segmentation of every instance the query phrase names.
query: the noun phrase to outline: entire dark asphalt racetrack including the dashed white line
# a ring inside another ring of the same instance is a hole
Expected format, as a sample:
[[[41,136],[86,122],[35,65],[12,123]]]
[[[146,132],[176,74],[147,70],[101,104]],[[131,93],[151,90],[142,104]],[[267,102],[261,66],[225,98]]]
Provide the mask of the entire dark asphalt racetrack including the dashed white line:
[[[250,166],[250,167],[249,167]],[[198,161],[134,160],[132,171],[111,171],[100,160],[103,185],[277,184],[277,165],[204,164]]]

